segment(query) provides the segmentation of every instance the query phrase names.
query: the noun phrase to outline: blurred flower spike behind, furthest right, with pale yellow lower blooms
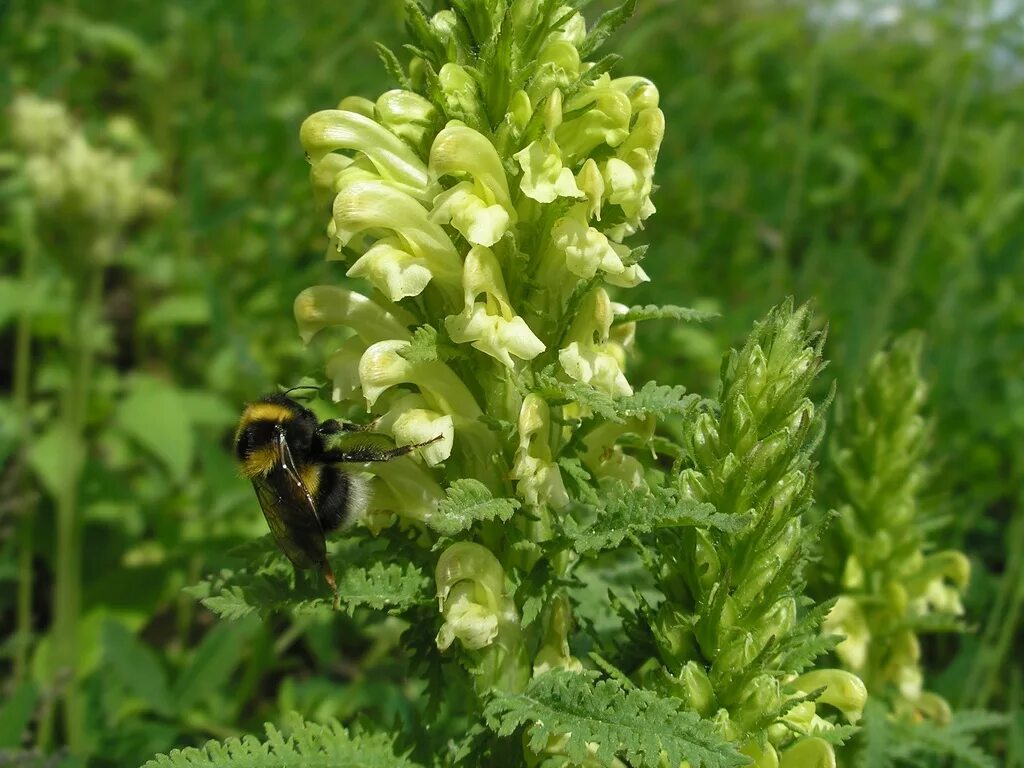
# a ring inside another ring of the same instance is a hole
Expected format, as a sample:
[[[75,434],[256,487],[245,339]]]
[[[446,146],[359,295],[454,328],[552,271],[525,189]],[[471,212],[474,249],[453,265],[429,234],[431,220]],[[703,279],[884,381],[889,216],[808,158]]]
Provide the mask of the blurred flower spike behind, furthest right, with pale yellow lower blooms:
[[[836,504],[828,561],[841,597],[825,628],[844,635],[836,652],[897,714],[945,722],[949,707],[923,688],[915,627],[955,626],[970,563],[958,551],[928,552],[919,497],[929,480],[930,426],[921,412],[922,337],[908,335],[871,360],[837,429]],[[942,620],[941,622],[938,620]]]

